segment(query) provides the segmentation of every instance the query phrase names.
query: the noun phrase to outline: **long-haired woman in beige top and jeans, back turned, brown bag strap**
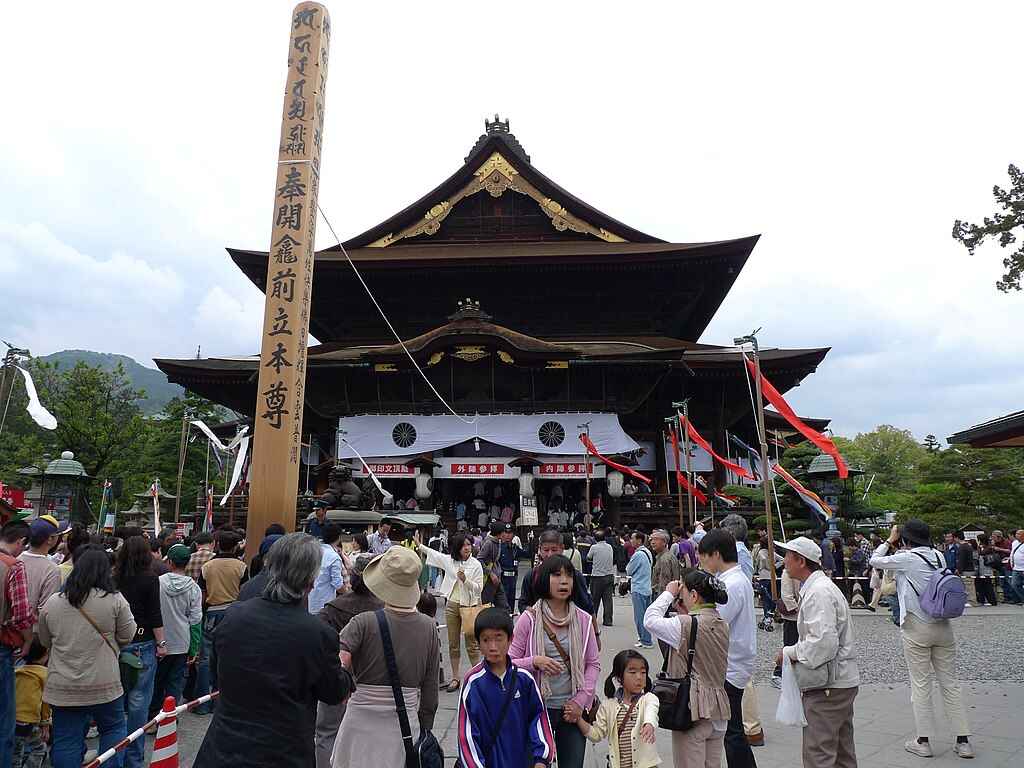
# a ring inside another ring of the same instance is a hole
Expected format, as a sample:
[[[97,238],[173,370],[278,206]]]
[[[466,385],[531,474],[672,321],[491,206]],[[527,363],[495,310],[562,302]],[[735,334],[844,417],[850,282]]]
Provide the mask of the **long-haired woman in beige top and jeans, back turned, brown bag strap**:
[[[50,649],[43,700],[53,711],[53,768],[78,768],[91,721],[99,728],[100,752],[126,733],[118,654],[135,635],[135,620],[102,549],[75,550],[75,568],[43,605],[38,632]],[[121,760],[118,754],[111,764]]]

